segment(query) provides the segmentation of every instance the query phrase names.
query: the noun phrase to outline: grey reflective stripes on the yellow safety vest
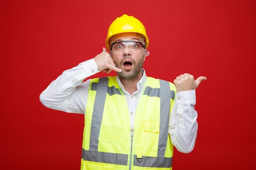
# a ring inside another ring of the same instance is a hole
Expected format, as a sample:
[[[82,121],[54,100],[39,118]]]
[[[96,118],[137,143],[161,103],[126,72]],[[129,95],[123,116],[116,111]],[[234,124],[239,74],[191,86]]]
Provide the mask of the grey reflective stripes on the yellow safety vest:
[[[154,167],[154,168],[171,168],[172,157],[164,157],[167,138],[168,138],[168,120],[170,112],[171,99],[174,99],[175,92],[170,90],[169,82],[159,80],[160,88],[151,88],[146,86],[143,95],[150,97],[160,98],[160,127],[159,127],[159,141],[157,157],[146,157],[143,156],[143,161],[134,161],[134,166],[141,167]],[[128,155],[98,152],[98,139],[101,128],[101,121],[103,117],[103,109],[105,105],[106,94],[108,95],[122,95],[118,88],[115,86],[108,86],[108,77],[99,78],[98,83],[92,83],[92,91],[97,91],[95,96],[94,108],[92,113],[92,123],[90,130],[90,148],[89,150],[82,151],[82,159],[85,161],[94,161],[101,163],[110,163],[118,165],[127,165]],[[134,155],[134,160],[137,159],[137,155]]]

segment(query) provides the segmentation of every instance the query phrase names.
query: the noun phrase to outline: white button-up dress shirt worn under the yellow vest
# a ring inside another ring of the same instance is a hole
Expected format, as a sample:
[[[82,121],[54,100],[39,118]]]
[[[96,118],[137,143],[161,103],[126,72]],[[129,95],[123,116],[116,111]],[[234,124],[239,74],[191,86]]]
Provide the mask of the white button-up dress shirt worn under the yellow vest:
[[[94,59],[80,63],[64,71],[57,79],[40,94],[40,101],[47,108],[67,113],[85,113],[91,75],[99,73]],[[135,110],[139,102],[147,77],[144,71],[137,83],[137,91],[128,93],[117,77],[117,82],[124,92],[130,113],[133,134]],[[169,120],[169,135],[172,144],[183,153],[193,150],[198,130],[197,112],[195,111],[195,90],[178,92]]]

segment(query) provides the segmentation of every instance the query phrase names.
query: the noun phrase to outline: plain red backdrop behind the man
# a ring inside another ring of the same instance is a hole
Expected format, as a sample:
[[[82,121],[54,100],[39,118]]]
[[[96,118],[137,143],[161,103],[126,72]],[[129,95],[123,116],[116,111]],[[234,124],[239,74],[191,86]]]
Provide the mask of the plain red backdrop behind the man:
[[[79,170],[83,115],[45,108],[39,95],[101,53],[124,13],[147,29],[148,76],[208,78],[197,89],[195,148],[175,150],[173,169],[256,168],[255,0],[1,0],[0,168]]]

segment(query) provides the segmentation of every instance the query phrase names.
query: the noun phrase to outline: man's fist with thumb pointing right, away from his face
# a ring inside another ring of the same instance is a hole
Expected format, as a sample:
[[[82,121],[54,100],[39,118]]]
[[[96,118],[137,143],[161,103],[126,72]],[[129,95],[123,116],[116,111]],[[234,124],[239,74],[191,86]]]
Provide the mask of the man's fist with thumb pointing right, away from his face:
[[[173,80],[173,83],[176,86],[177,92],[179,92],[195,90],[203,80],[207,80],[207,78],[200,76],[195,80],[193,75],[184,73],[180,76],[177,76],[176,79]]]

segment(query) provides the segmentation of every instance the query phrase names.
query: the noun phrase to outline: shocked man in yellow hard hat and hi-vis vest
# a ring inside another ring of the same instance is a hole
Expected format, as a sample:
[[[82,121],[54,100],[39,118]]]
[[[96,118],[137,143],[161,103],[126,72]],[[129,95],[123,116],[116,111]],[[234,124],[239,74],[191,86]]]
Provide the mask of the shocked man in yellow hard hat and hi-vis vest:
[[[81,170],[172,169],[173,145],[193,150],[197,135],[194,80],[174,84],[147,77],[142,68],[148,36],[133,16],[117,18],[103,51],[64,71],[40,95],[46,107],[85,114]],[[100,71],[117,76],[84,80]]]

